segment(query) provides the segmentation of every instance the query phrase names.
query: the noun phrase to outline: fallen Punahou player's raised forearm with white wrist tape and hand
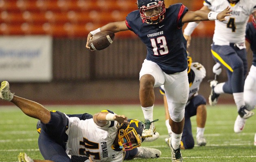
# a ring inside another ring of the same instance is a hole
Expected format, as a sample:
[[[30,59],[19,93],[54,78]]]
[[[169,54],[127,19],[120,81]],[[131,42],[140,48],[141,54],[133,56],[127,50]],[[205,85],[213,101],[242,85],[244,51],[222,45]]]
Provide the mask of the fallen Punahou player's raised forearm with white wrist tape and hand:
[[[100,127],[104,127],[108,121],[117,121],[118,123],[130,124],[128,118],[124,115],[112,114],[109,112],[99,112],[93,115],[93,121]]]

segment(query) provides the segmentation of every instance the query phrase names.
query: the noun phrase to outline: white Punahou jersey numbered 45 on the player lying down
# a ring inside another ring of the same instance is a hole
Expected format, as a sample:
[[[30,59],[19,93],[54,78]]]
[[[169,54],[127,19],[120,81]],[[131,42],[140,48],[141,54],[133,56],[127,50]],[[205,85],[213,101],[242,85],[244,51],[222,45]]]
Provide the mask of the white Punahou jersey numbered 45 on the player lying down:
[[[94,123],[93,119],[67,118],[69,127],[66,131],[68,135],[66,151],[69,155],[91,156],[96,162],[124,160],[124,151],[112,146],[119,127],[117,121],[108,121],[106,126],[100,127]]]

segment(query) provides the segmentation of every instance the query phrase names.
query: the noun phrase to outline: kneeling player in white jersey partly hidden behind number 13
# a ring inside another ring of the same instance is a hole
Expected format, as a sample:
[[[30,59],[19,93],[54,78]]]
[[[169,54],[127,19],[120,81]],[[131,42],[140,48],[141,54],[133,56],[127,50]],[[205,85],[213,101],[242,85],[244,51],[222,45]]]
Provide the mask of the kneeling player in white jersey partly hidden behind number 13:
[[[202,95],[198,95],[199,87],[206,76],[206,70],[200,63],[192,63],[192,58],[188,56],[188,77],[189,77],[189,100],[185,107],[185,123],[183,128],[183,133],[181,137],[180,148],[181,149],[192,149],[195,145],[191,120],[190,117],[196,115],[197,132],[196,132],[196,142],[198,146],[205,146],[206,139],[204,137],[204,127],[206,123],[206,99]],[[164,106],[165,106],[165,125],[168,130],[169,136],[171,136],[171,127],[169,125],[169,113],[168,105],[165,97],[164,86],[160,86],[160,92],[163,95]],[[165,138],[167,142],[168,138]]]

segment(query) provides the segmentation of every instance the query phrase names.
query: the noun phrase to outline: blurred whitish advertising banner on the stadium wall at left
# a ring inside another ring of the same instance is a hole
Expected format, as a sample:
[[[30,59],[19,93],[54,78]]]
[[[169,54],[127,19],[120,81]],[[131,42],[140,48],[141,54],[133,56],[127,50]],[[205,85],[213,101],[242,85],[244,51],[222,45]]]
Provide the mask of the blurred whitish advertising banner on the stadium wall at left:
[[[0,78],[10,82],[50,82],[52,37],[0,37]]]

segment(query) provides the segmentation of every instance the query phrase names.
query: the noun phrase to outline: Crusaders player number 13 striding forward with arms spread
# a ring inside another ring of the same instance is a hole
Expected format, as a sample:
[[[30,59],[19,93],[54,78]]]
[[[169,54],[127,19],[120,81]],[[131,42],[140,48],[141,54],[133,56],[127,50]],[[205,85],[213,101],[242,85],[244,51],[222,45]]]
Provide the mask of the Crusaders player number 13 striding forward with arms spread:
[[[165,86],[165,95],[171,119],[172,136],[169,140],[172,161],[182,162],[180,140],[184,126],[184,108],[189,95],[187,76],[187,42],[182,34],[186,22],[226,20],[230,7],[220,13],[210,11],[188,11],[183,4],[165,8],[163,0],[137,0],[138,9],[132,11],[125,21],[113,22],[91,31],[89,39],[100,31],[120,32],[131,30],[147,45],[147,56],[142,64],[139,81],[139,98],[145,117],[143,137],[154,134],[153,106],[154,87]],[[89,48],[90,49],[90,48]],[[91,50],[91,49],[90,49]]]

